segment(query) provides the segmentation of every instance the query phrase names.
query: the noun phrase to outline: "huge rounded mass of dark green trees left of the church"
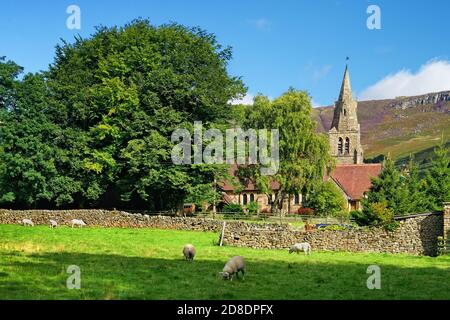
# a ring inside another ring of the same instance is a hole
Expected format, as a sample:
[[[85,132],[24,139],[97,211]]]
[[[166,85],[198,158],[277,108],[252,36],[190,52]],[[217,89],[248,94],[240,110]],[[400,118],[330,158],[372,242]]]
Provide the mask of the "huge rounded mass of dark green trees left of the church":
[[[245,94],[227,72],[230,59],[231,49],[201,29],[136,20],[57,46],[49,71],[33,76],[39,101],[18,97],[20,68],[3,63],[2,118],[11,120],[1,142],[3,201],[163,209],[210,186],[226,168],[173,164],[171,134],[194,121],[226,125],[229,101]],[[11,96],[22,114],[11,112]]]

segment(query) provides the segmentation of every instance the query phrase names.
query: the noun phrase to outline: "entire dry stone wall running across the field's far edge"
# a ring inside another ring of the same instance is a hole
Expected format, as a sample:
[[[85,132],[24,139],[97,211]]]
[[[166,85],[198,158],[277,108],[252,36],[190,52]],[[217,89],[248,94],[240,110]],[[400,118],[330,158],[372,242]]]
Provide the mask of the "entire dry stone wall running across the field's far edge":
[[[82,219],[88,226],[96,227],[148,227],[213,232],[220,232],[223,225],[223,221],[208,218],[149,216],[124,211],[0,210],[0,224],[17,224],[25,218],[32,219],[37,225],[48,225],[50,219],[56,220],[60,225],[69,225],[71,219]],[[435,255],[437,237],[442,236],[445,231],[448,234],[450,230],[450,206],[445,207],[445,215],[441,212],[419,214],[401,218],[399,222],[400,227],[393,232],[382,228],[304,232],[294,230],[288,224],[229,221],[223,240],[225,245],[257,249],[287,249],[296,242],[306,241],[313,250]]]

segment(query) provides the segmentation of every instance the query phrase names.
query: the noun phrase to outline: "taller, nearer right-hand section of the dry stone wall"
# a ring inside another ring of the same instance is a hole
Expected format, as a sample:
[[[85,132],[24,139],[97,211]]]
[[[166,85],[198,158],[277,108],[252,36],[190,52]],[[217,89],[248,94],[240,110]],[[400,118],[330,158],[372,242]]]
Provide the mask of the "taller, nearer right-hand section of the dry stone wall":
[[[224,243],[251,248],[287,249],[296,242],[309,242],[313,250],[408,253],[435,255],[437,237],[442,235],[442,213],[421,214],[399,219],[397,230],[361,228],[346,231],[291,230],[289,226],[261,228],[258,225],[227,227]]]

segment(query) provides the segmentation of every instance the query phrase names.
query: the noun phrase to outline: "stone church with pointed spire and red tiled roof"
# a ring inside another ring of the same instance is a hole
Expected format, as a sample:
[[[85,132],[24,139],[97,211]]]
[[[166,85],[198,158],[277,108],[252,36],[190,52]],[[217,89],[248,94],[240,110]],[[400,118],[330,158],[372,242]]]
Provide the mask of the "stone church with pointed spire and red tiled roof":
[[[380,163],[364,163],[364,151],[361,147],[361,129],[357,116],[358,103],[353,99],[348,66],[345,67],[344,78],[338,101],[335,102],[333,121],[328,131],[331,155],[336,159],[335,169],[324,177],[333,182],[347,199],[347,209],[361,210],[361,200],[370,189],[371,178],[381,173]],[[237,165],[230,168],[232,176],[236,176]],[[277,191],[279,184],[272,181],[271,189]],[[260,210],[268,211],[273,201],[273,194],[260,193],[252,181],[237,192],[233,184],[224,182],[221,185],[224,203],[236,203],[246,206],[252,201],[259,204]],[[302,207],[302,195],[290,195],[283,203],[282,212],[294,213]]]

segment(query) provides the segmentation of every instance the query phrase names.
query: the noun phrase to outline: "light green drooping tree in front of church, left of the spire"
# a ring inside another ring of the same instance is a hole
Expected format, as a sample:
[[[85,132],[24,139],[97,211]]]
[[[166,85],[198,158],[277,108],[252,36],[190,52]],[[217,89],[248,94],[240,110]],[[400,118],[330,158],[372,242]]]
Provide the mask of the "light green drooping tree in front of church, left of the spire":
[[[271,194],[272,180],[280,184],[275,193],[272,212],[281,209],[289,194],[306,194],[320,181],[325,170],[333,166],[328,138],[316,132],[311,119],[311,99],[304,91],[289,89],[270,101],[259,95],[248,109],[245,128],[279,130],[279,169],[272,176],[260,174],[260,165],[246,168],[243,176],[252,177],[260,190]]]

